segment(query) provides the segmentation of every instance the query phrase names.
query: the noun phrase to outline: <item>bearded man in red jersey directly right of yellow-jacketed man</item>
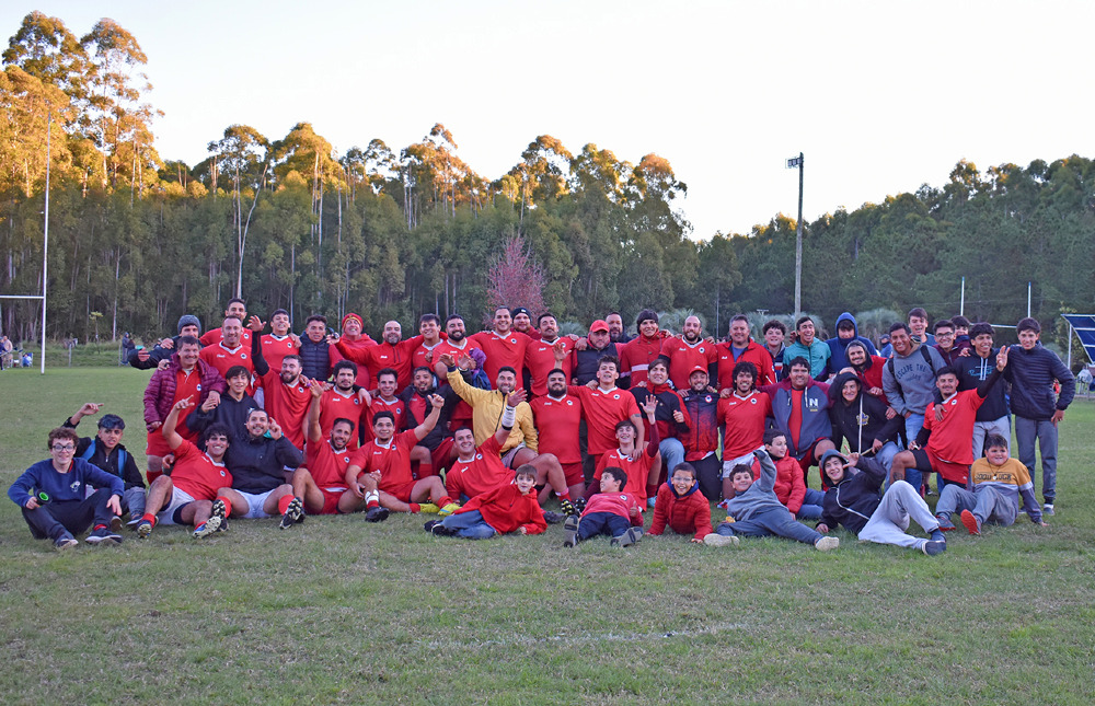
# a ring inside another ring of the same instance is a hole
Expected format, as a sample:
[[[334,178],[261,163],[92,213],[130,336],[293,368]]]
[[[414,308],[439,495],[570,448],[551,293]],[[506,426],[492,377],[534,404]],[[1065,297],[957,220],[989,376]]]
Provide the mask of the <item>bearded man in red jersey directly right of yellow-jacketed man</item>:
[[[548,373],[548,394],[530,403],[540,431],[540,450],[554,454],[563,467],[570,497],[580,497],[586,489],[581,472],[581,400],[566,392],[567,373],[556,368]]]

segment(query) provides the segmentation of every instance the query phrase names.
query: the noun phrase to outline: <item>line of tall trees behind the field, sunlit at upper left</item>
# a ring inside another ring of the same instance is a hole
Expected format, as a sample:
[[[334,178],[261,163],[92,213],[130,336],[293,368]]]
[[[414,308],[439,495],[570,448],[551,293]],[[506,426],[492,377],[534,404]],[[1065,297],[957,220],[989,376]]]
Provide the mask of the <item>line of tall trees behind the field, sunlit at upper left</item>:
[[[112,20],[78,38],[39,12],[3,53],[0,293],[41,291],[48,162],[50,336],[85,338],[96,319],[115,336],[170,331],[183,313],[214,322],[237,294],[297,322],[356,311],[368,331],[426,311],[477,322],[515,239],[561,321],[650,306],[725,328],[740,311],[793,309],[795,221],[694,240],[688,186],[657,154],[632,163],[542,135],[492,180],[440,123],[401,149],[372,139],[343,154],[309,123],[279,139],[233,124],[188,165],[155,150],[146,61]],[[1093,182],[1077,155],[959,161],[942,188],[804,223],[804,306],[830,324],[844,310],[949,316],[965,277],[975,321],[1025,315],[1028,281],[1045,324],[1095,309]],[[5,333],[38,335],[37,302],[0,305]]]

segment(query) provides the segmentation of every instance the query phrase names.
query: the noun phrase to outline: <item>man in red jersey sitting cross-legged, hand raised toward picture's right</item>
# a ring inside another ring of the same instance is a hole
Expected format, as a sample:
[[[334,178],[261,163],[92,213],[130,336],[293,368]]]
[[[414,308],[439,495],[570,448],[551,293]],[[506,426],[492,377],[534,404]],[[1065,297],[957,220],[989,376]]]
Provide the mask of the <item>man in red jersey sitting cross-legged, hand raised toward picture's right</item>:
[[[391,412],[373,415],[372,441],[357,450],[346,468],[346,485],[354,495],[364,499],[378,491],[380,505],[395,512],[450,514],[460,507],[448,496],[439,477],[415,481],[411,475],[411,450],[430,432],[445,406],[440,395],[431,396],[429,403],[434,408],[426,419],[402,433],[395,433]]]

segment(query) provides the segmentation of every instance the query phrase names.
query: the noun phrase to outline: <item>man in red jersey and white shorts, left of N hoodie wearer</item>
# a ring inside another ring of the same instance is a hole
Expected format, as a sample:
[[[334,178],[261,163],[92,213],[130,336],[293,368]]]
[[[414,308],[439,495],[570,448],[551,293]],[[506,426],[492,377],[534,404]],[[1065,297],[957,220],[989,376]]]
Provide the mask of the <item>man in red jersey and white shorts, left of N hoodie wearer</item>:
[[[734,497],[734,484],[730,483],[734,466],[752,463],[753,451],[764,441],[765,419],[772,415],[772,401],[766,393],[756,389],[756,381],[757,367],[748,361],[739,362],[734,367],[734,391],[718,401],[718,424],[726,426],[723,436],[724,498]]]

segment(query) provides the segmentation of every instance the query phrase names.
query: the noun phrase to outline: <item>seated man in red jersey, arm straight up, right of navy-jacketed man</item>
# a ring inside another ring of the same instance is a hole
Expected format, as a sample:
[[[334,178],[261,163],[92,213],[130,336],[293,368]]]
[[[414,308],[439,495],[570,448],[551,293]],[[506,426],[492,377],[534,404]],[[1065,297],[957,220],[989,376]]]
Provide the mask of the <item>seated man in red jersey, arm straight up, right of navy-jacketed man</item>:
[[[342,364],[349,361],[339,361]],[[353,364],[353,363],[351,363]],[[365,519],[380,522],[388,519],[388,510],[380,507],[380,495],[373,490],[368,497],[347,493],[346,468],[349,467],[354,449],[356,426],[353,420],[339,417],[331,423],[331,433],[323,436],[320,417],[325,385],[310,387],[312,404],[308,409],[308,444],[304,447],[304,464],[292,473],[292,495],[301,498],[308,514],[344,514],[356,512],[368,506]]]

